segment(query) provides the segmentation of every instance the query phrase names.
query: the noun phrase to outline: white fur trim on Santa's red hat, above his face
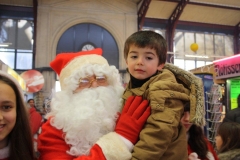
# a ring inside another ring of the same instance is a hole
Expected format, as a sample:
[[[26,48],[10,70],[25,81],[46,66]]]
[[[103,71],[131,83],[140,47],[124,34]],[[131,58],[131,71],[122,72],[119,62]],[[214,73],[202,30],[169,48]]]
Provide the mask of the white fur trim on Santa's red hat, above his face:
[[[66,84],[64,83],[64,79],[68,78],[76,69],[81,68],[86,64],[99,64],[99,65],[108,65],[107,60],[96,54],[92,55],[82,55],[71,60],[61,71],[60,73],[60,84],[61,89],[64,90],[66,88]]]

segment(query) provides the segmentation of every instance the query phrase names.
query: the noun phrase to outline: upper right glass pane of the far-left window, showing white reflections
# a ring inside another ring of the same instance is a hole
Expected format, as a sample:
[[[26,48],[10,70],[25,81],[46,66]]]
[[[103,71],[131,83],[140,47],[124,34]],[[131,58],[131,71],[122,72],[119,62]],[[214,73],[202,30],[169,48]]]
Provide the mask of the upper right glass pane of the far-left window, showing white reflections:
[[[18,21],[18,49],[32,49],[33,26],[32,21]]]

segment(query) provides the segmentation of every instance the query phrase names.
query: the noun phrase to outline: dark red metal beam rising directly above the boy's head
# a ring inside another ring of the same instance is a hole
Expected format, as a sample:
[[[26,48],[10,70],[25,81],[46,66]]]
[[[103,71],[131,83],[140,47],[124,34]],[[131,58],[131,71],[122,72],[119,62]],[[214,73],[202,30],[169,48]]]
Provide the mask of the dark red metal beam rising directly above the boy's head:
[[[143,0],[142,5],[138,10],[138,30],[142,29],[144,19],[150,3],[151,3],[151,0]]]

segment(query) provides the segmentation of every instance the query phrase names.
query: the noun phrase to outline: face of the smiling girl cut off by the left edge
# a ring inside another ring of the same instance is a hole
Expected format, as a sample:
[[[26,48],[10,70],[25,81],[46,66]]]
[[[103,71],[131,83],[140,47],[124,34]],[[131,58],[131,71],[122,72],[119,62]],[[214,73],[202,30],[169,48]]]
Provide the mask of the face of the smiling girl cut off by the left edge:
[[[0,81],[0,149],[8,145],[8,135],[16,123],[16,108],[14,90]]]

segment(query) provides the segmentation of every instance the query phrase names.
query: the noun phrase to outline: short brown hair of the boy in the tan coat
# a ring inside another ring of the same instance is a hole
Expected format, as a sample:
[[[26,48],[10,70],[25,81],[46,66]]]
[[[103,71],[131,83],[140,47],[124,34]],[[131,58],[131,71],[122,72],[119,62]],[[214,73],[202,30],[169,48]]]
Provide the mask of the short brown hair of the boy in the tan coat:
[[[162,35],[154,31],[138,31],[133,33],[125,42],[124,58],[127,59],[128,52],[131,45],[140,48],[149,47],[156,50],[159,65],[164,64],[167,59],[167,42]]]

